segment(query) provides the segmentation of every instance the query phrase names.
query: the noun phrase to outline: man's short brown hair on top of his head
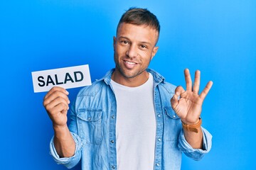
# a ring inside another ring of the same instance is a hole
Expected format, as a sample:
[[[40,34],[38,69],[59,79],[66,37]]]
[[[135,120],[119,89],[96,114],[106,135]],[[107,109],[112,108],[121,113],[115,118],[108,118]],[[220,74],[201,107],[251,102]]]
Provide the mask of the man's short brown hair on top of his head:
[[[160,24],[158,19],[154,13],[151,13],[146,8],[129,8],[120,18],[120,21],[117,25],[117,31],[122,23],[132,23],[137,26],[149,26],[160,33]]]

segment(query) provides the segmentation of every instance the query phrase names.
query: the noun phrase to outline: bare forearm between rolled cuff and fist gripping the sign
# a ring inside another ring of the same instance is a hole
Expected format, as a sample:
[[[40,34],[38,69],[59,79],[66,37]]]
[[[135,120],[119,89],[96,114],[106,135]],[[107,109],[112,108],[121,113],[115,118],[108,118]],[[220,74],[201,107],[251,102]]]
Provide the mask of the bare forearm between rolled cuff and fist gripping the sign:
[[[75,154],[75,141],[68,126],[54,126],[54,146],[60,157],[72,157]]]

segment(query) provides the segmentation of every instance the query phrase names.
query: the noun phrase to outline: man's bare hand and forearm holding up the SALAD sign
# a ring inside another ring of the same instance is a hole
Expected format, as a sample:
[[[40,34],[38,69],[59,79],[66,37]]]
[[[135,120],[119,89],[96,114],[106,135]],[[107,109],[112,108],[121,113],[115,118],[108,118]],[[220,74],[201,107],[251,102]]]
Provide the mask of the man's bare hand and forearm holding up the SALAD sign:
[[[53,122],[53,142],[59,157],[72,157],[75,154],[75,141],[67,125],[69,103],[68,91],[61,87],[53,87],[43,98],[43,106]]]

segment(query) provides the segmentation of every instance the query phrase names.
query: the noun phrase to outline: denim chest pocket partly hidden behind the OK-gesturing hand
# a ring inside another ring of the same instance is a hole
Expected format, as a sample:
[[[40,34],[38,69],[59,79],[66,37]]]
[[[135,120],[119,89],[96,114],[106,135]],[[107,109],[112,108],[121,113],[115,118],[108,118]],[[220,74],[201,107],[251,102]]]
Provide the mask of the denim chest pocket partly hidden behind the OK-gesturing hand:
[[[181,132],[181,119],[171,107],[164,107],[164,137],[166,141],[178,141]]]

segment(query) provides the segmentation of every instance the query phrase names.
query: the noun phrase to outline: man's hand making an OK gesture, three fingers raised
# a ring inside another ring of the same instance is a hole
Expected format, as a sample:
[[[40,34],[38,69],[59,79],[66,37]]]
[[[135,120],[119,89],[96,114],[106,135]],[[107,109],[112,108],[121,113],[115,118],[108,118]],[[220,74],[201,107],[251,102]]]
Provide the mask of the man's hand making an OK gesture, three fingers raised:
[[[182,86],[178,86],[175,89],[175,94],[171,98],[171,107],[181,118],[183,123],[193,125],[198,123],[202,111],[203,100],[210,91],[213,81],[209,81],[202,93],[199,94],[200,71],[196,71],[193,86],[191,74],[189,73],[188,69],[184,70],[184,75],[186,81],[186,91]]]

